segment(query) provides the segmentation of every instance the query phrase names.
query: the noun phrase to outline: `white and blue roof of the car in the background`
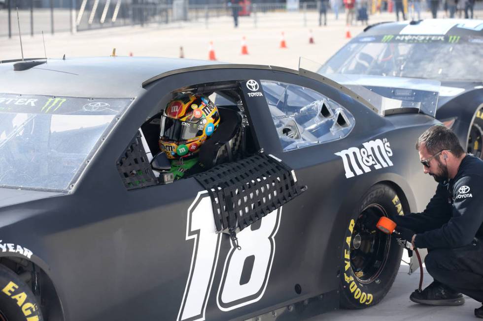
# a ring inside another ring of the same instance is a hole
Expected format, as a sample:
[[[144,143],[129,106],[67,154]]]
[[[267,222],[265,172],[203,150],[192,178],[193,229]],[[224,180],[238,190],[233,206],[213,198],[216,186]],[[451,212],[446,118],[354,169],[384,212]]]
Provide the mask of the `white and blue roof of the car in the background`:
[[[358,37],[385,34],[427,34],[483,36],[481,19],[426,19],[420,21],[384,22],[364,29]]]

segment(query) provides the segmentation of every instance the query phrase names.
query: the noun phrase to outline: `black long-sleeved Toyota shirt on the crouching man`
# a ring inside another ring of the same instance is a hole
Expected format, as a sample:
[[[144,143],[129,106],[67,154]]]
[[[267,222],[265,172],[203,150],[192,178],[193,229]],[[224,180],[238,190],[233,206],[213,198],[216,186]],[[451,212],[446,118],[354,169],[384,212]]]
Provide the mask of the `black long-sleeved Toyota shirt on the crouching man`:
[[[456,248],[475,236],[483,239],[483,161],[467,155],[454,178],[438,184],[424,212],[397,221],[417,233],[418,248]]]

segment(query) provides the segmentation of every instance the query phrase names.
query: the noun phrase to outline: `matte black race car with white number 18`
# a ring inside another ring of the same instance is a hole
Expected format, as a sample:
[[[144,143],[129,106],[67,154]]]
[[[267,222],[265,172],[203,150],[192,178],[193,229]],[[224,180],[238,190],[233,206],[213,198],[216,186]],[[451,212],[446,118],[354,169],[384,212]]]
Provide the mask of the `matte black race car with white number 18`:
[[[0,64],[0,320],[303,320],[384,297],[402,248],[365,213],[427,203],[430,109],[382,116],[308,70],[209,63]],[[173,181],[160,115],[187,92],[220,123]]]

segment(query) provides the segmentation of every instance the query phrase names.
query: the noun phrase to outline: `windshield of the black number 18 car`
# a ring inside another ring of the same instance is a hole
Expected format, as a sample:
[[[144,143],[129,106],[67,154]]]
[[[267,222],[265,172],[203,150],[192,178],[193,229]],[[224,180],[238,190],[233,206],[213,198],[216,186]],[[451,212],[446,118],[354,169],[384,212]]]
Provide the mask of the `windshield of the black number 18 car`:
[[[0,186],[69,189],[131,101],[0,94]]]

